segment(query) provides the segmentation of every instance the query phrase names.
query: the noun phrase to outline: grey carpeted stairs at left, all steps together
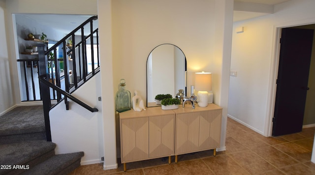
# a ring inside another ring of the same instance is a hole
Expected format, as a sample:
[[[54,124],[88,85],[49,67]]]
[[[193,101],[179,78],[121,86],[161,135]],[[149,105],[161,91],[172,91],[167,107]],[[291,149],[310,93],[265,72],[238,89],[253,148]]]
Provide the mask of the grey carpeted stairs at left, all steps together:
[[[0,116],[0,175],[67,175],[83,152],[55,155],[46,141],[43,106],[16,107]]]

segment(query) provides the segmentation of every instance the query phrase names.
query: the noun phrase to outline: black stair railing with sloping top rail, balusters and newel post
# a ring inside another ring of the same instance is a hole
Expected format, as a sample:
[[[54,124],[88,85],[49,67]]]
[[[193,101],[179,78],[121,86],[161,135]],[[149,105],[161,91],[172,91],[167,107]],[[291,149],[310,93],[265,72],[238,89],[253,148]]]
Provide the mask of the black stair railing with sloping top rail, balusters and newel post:
[[[46,43],[37,44],[40,99],[43,101],[47,141],[51,141],[49,111],[52,99],[57,102],[64,100],[67,110],[69,98],[91,112],[98,111],[71,95],[99,72],[98,29],[93,26],[95,20],[96,16],[91,17],[49,49]]]

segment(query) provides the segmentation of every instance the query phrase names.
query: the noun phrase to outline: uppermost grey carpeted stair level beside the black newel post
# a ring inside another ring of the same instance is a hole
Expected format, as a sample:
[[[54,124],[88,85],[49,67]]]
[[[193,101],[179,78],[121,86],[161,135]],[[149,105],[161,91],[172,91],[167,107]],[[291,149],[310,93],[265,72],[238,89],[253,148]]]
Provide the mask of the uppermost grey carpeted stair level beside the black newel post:
[[[20,106],[0,116],[0,136],[45,132],[43,106]]]

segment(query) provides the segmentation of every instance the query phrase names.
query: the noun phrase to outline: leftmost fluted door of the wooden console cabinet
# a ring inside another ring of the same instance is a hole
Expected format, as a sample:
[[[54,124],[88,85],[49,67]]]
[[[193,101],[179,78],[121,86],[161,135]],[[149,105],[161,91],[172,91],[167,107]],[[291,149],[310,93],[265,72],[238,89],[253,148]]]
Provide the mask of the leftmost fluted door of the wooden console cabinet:
[[[149,158],[148,117],[121,120],[122,163]]]

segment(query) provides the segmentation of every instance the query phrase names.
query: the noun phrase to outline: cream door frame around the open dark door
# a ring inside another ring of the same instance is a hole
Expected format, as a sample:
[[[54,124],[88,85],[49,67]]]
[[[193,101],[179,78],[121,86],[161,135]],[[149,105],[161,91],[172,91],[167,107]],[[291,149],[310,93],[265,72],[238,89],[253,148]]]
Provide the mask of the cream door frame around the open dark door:
[[[272,118],[274,117],[275,112],[275,103],[276,103],[276,92],[277,92],[277,78],[278,78],[278,71],[279,71],[279,59],[280,59],[280,38],[282,34],[283,28],[289,27],[296,27],[296,26],[305,26],[315,24],[315,19],[311,19],[308,22],[301,22],[297,23],[292,22],[286,25],[278,25],[274,26],[274,39],[272,47],[272,59],[270,62],[270,76],[269,76],[269,87],[268,87],[268,98],[267,98],[267,117],[265,118],[265,128],[264,128],[264,136],[271,137],[272,136],[272,128],[273,128],[273,121]]]

